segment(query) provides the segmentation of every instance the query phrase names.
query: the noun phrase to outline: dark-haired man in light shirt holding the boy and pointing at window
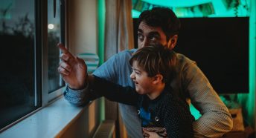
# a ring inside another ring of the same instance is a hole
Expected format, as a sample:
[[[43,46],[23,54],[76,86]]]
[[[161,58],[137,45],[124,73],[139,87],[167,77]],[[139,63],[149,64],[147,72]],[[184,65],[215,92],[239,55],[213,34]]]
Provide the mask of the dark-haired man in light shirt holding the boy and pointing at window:
[[[163,7],[145,10],[139,16],[138,24],[138,48],[154,43],[160,43],[170,49],[175,47],[180,23],[172,10]],[[60,57],[63,62],[60,63],[58,70],[64,81],[68,83],[64,94],[65,99],[73,104],[81,105],[88,98],[85,96],[88,91],[87,80],[85,80],[88,78],[86,77],[86,65],[82,59],[72,56],[62,45],[60,49],[63,50],[63,55]],[[129,79],[129,74],[132,73],[129,58],[134,52],[135,49],[124,50],[112,56],[95,70],[94,75],[134,88],[132,80]],[[191,103],[202,114],[193,122],[194,137],[220,137],[230,131],[233,125],[231,115],[196,63],[178,53],[176,70],[176,78],[170,82],[170,86],[183,100],[191,99]],[[138,131],[141,122],[135,108],[129,105],[120,104],[119,106],[129,136],[142,137],[141,131]]]

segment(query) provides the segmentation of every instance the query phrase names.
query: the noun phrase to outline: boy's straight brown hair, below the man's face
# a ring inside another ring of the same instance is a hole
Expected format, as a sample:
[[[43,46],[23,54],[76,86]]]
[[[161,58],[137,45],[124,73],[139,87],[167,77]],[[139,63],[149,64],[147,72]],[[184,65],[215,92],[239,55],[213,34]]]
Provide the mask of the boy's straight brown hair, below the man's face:
[[[147,46],[138,49],[129,59],[129,64],[137,61],[138,66],[147,72],[147,76],[156,74],[163,76],[163,82],[169,82],[176,73],[173,66],[176,65],[176,53],[163,45]]]

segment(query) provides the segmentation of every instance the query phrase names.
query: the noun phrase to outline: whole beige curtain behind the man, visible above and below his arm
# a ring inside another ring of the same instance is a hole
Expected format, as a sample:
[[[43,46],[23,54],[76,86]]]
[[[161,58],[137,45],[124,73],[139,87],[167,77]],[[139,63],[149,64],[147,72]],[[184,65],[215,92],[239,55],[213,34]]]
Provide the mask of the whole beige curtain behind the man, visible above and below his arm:
[[[106,0],[106,26],[104,59],[109,59],[121,50],[132,49],[133,24],[132,0]],[[105,99],[105,118],[114,119],[117,137],[127,137],[127,131],[121,121],[117,102]]]

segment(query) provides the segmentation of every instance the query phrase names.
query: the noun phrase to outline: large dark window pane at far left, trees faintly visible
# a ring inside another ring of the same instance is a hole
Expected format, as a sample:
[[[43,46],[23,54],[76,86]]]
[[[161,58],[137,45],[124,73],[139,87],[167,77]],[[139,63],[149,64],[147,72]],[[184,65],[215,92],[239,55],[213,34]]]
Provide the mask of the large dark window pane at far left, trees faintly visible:
[[[0,1],[0,129],[39,108],[34,0]]]

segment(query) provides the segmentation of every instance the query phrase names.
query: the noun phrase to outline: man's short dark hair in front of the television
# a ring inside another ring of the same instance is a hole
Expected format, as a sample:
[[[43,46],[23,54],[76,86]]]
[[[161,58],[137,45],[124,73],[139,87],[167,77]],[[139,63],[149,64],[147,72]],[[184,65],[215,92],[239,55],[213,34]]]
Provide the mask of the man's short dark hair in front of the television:
[[[178,34],[180,22],[173,10],[167,7],[153,7],[152,10],[144,10],[138,17],[138,24],[146,23],[150,27],[161,27],[167,41],[170,37]]]

